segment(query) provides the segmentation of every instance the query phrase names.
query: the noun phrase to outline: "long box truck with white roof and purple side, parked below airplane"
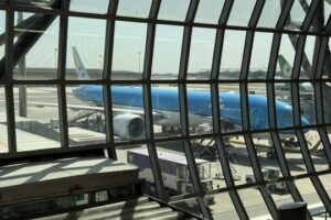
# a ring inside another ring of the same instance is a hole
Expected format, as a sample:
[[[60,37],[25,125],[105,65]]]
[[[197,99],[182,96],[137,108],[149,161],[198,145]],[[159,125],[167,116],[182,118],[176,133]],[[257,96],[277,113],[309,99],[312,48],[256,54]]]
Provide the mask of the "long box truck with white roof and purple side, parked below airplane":
[[[147,187],[153,185],[153,174],[149,163],[147,148],[129,150],[127,154],[128,163],[136,164],[140,168],[140,178],[145,178]],[[190,178],[190,172],[184,155],[180,153],[170,153],[158,151],[158,158],[162,172],[162,179],[169,196],[193,194],[193,185]],[[205,160],[195,160],[201,184],[204,190],[213,189],[213,179],[211,178],[211,163]],[[148,184],[149,183],[149,184]],[[148,189],[147,189],[148,190]],[[214,196],[205,197],[205,202],[214,204]],[[194,206],[194,204],[188,204]]]

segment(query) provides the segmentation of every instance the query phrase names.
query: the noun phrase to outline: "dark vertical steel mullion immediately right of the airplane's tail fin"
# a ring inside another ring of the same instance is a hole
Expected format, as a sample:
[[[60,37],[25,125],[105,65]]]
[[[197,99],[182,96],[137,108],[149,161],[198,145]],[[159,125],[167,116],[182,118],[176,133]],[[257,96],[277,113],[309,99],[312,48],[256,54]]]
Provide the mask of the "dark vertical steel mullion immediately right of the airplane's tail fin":
[[[106,37],[105,37],[105,51],[104,51],[104,72],[103,79],[106,84],[103,85],[104,95],[104,113],[105,113],[105,129],[106,129],[106,142],[109,143],[105,148],[107,157],[117,160],[114,140],[114,113],[113,113],[113,98],[111,98],[111,66],[113,66],[113,51],[114,51],[114,37],[115,37],[115,20],[111,15],[116,14],[118,7],[118,0],[111,0],[108,7],[107,24],[106,24]]]

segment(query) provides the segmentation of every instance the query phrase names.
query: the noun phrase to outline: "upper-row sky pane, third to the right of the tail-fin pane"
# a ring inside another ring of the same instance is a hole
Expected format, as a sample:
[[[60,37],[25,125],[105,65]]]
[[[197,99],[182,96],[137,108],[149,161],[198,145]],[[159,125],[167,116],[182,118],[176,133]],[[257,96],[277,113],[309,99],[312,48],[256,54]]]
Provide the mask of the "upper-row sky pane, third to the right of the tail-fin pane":
[[[215,30],[193,29],[188,78],[207,79],[211,76]]]

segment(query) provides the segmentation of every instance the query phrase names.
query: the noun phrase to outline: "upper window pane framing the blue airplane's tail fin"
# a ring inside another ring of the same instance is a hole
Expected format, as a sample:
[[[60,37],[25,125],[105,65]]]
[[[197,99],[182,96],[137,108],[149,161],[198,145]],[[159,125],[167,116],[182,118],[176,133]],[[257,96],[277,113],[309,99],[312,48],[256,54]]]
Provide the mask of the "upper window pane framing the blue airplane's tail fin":
[[[70,18],[67,29],[66,79],[100,79],[104,67],[106,21]],[[74,56],[74,51],[77,55]],[[81,59],[82,62],[78,62]],[[79,63],[82,63],[79,65]],[[85,69],[85,70],[84,70]],[[88,76],[85,76],[85,73]]]

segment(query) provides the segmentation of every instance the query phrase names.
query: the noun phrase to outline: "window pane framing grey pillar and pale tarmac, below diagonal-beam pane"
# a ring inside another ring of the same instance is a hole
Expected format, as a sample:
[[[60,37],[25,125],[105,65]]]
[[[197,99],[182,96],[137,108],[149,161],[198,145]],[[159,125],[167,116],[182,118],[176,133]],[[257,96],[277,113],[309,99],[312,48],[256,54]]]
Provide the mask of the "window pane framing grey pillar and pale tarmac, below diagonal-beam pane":
[[[22,99],[20,92],[25,92],[26,99]],[[47,103],[43,103],[44,97]],[[14,88],[14,101],[18,152],[60,147],[58,111],[54,108],[57,106],[56,87],[19,85]]]

